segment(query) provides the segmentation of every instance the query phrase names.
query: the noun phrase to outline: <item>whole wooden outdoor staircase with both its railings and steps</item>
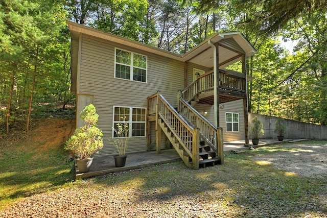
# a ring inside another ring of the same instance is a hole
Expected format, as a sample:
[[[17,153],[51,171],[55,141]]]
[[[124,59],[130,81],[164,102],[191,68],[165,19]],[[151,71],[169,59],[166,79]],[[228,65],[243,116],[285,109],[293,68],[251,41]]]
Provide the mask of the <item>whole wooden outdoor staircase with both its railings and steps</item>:
[[[148,122],[156,122],[157,153],[162,130],[186,166],[198,169],[223,164],[222,128],[213,126],[182,98],[177,108],[159,92],[148,98]]]

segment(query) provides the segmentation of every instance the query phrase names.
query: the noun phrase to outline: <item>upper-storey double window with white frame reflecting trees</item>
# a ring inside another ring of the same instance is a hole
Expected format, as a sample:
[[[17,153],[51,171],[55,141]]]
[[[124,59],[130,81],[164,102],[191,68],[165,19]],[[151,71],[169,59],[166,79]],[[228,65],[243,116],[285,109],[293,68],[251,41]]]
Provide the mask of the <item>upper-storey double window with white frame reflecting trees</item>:
[[[147,82],[147,56],[115,49],[115,78]]]

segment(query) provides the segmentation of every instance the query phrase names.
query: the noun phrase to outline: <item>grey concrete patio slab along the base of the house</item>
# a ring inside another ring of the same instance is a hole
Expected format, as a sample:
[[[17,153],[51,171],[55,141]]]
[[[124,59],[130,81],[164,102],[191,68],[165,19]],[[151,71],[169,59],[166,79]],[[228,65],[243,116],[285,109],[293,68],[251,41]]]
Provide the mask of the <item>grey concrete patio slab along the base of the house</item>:
[[[305,139],[284,139],[283,141],[278,141],[277,139],[260,139],[258,146],[253,146],[254,148],[262,146],[270,146],[272,144],[286,143],[286,142],[296,142]],[[245,141],[229,141],[224,142],[224,152],[232,150],[242,150],[249,149],[249,147],[244,146]],[[250,143],[251,144],[251,143]],[[160,154],[156,154],[156,151],[150,152],[138,152],[128,154],[126,165],[124,167],[115,167],[114,158],[112,155],[103,155],[94,157],[93,163],[89,172],[79,173],[76,167],[76,179],[82,179],[87,177],[95,177],[100,175],[105,175],[114,172],[129,171],[130,169],[137,169],[142,167],[147,167],[150,165],[158,163],[168,163],[181,160],[177,152],[174,149],[161,150]]]

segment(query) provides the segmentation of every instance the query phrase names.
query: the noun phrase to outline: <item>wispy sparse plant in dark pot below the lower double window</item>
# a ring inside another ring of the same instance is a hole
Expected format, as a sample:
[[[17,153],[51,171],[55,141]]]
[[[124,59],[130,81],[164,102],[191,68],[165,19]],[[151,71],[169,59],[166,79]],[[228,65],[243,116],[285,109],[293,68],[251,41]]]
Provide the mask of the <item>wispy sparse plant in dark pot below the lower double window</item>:
[[[115,124],[112,130],[114,132],[114,138],[109,139],[109,141],[118,151],[118,155],[113,156],[114,163],[116,167],[122,167],[125,166],[127,158],[126,149],[129,141],[128,123],[124,119],[122,123]]]

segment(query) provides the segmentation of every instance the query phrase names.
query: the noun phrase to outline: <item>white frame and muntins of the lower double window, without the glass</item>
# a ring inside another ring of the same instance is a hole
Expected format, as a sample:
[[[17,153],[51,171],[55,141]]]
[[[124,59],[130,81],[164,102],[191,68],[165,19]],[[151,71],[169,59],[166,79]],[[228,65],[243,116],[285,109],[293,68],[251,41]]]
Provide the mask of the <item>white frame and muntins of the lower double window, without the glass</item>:
[[[112,110],[112,129],[114,128],[114,125],[116,123],[122,123],[121,121],[115,121],[114,120],[114,109],[115,108],[129,108],[129,117],[130,120],[128,120],[126,123],[128,124],[128,137],[132,137],[132,138],[138,138],[138,137],[145,137],[147,135],[147,108],[143,108],[143,107],[131,107],[131,106],[113,106],[113,110]],[[144,109],[145,110],[145,121],[133,121],[133,109]],[[133,133],[133,129],[132,126],[133,124],[138,123],[138,124],[144,124],[144,135],[141,136],[132,136]],[[118,137],[114,137],[114,131],[112,130],[112,138],[118,138]]]

